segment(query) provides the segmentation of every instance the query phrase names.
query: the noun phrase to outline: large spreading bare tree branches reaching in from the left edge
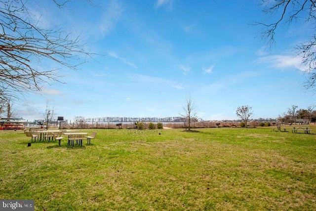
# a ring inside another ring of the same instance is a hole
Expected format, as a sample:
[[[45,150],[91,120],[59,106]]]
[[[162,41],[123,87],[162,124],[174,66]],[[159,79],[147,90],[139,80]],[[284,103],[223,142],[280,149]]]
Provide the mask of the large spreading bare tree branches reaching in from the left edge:
[[[57,3],[62,7],[64,3]],[[0,98],[39,91],[43,84],[60,82],[57,70],[43,70],[37,62],[50,60],[76,69],[89,53],[79,37],[61,30],[40,28],[31,17],[27,0],[0,0]]]

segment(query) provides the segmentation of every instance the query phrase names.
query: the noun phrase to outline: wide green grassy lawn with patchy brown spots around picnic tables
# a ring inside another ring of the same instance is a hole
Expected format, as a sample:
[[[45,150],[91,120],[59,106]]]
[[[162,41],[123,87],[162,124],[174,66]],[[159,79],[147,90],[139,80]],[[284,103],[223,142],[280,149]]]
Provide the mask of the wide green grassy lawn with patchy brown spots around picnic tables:
[[[91,145],[27,147],[23,131],[0,131],[0,199],[33,199],[37,211],[316,210],[314,134],[83,131],[97,131]]]

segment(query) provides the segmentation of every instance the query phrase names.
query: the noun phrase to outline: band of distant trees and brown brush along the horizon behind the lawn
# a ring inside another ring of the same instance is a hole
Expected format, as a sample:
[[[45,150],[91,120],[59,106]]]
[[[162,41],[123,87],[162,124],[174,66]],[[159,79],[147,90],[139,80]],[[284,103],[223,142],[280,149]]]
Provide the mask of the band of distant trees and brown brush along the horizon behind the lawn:
[[[188,104],[188,103],[187,103]],[[237,117],[239,120],[222,120],[222,121],[204,121],[196,116],[191,116],[190,123],[193,128],[202,127],[257,127],[270,126],[278,124],[309,124],[316,122],[316,110],[314,106],[307,109],[299,109],[298,106],[292,105],[287,112],[279,115],[278,118],[259,118],[252,119],[253,111],[250,106],[240,106],[237,108]],[[187,112],[187,110],[185,110]],[[191,110],[190,110],[191,111]],[[75,117],[74,122],[65,123],[64,127],[73,128],[117,128],[116,123],[121,124],[121,128],[158,128],[158,124],[163,123],[163,127],[186,128],[188,129],[188,115],[182,117],[102,117],[102,118],[84,118],[82,116]],[[136,123],[136,124],[135,124]],[[148,125],[146,123],[149,123]],[[243,125],[241,125],[243,123]],[[247,125],[246,125],[247,123]],[[249,124],[248,124],[249,123]],[[68,125],[68,126],[67,126]],[[137,127],[136,127],[137,126]]]

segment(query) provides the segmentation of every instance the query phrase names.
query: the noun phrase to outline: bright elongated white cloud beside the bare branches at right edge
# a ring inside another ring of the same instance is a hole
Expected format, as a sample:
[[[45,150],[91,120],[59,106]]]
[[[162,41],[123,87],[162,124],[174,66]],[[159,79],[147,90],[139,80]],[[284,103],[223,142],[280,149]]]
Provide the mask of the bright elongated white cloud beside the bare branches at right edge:
[[[299,56],[289,55],[272,55],[264,56],[257,60],[258,63],[270,64],[273,68],[295,68],[301,71],[306,71],[306,67],[302,65],[302,58]]]

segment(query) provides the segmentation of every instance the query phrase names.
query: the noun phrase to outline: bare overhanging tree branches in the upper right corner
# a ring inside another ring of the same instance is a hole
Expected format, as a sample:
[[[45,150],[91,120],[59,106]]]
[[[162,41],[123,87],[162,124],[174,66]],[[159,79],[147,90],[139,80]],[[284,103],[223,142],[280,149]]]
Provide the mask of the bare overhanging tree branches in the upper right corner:
[[[263,11],[275,17],[272,23],[256,23],[263,25],[263,37],[270,44],[276,42],[275,35],[282,25],[295,24],[297,20],[304,20],[316,27],[316,0],[262,0]],[[306,67],[308,79],[304,84],[307,89],[316,91],[316,33],[306,42],[295,47],[297,55],[302,57],[302,64]]]

